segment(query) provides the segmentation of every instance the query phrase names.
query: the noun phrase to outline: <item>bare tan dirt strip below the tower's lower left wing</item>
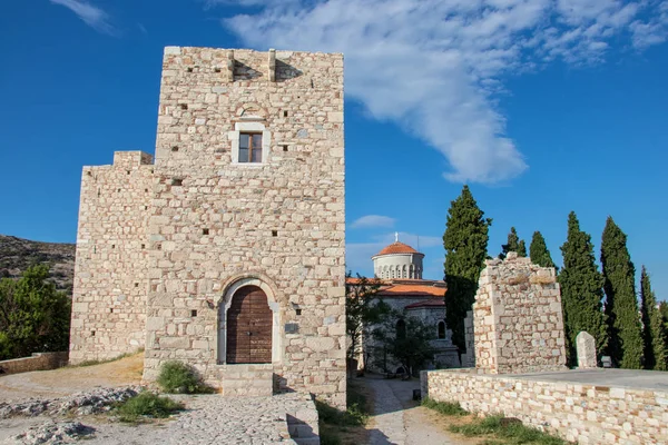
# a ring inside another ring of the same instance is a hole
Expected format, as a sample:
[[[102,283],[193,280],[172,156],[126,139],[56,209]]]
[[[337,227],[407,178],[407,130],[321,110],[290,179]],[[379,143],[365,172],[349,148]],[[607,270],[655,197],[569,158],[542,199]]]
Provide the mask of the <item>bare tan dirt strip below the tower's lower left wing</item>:
[[[0,402],[62,397],[98,386],[138,385],[144,353],[101,365],[12,374],[0,377]]]

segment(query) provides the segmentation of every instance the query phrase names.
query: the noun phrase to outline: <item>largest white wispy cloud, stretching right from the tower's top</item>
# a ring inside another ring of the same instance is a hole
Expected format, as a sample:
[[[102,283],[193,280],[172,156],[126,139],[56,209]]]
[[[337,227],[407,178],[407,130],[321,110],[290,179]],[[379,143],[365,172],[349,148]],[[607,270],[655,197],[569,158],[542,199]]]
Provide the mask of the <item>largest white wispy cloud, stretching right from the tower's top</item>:
[[[208,0],[207,4],[229,3]],[[494,93],[556,59],[605,59],[613,39],[666,39],[668,1],[240,0],[224,20],[245,44],[343,52],[346,95],[441,151],[453,181],[498,182],[528,166]]]

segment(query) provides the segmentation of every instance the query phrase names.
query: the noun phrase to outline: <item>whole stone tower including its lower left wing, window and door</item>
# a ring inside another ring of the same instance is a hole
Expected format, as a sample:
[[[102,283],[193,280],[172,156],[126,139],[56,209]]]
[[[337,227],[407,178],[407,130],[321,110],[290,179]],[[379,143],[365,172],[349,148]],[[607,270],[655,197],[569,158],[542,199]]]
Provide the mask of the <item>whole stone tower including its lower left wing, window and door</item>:
[[[343,57],[165,49],[155,164],[81,186],[70,359],[345,405]]]

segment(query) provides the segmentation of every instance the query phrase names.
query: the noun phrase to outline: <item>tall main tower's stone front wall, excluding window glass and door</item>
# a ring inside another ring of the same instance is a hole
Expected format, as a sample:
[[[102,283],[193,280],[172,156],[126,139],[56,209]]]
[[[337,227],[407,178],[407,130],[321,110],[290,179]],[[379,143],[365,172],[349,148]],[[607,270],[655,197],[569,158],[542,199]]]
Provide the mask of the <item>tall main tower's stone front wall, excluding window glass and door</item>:
[[[343,57],[168,47],[158,112],[145,378],[181,359],[220,386],[226,305],[256,283],[281,388],[344,406]]]

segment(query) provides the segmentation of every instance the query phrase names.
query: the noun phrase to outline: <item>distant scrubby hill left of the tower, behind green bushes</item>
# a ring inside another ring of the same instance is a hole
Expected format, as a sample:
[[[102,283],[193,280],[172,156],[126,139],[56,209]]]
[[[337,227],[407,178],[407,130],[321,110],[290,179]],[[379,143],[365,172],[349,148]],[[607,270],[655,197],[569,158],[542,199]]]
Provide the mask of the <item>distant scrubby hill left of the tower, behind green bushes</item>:
[[[75,244],[40,243],[0,235],[0,278],[18,278],[35,264],[48,264],[59,290],[72,295]]]

